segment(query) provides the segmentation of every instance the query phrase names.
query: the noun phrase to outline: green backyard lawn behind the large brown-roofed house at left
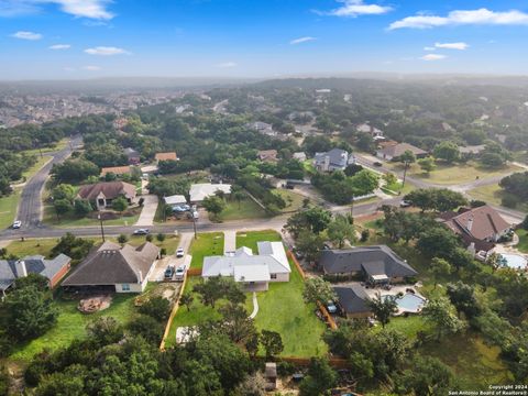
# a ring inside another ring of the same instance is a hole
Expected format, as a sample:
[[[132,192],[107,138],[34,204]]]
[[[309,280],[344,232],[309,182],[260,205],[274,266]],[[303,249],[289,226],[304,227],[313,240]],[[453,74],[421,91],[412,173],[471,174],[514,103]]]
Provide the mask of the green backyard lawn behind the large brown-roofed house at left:
[[[77,300],[57,299],[59,316],[53,329],[42,337],[15,348],[10,360],[29,362],[34,354],[44,349],[56,350],[67,346],[72,341],[86,337],[86,326],[101,316],[113,317],[121,323],[128,323],[135,315],[135,294],[114,294],[112,304],[103,311],[84,315],[77,310]]]

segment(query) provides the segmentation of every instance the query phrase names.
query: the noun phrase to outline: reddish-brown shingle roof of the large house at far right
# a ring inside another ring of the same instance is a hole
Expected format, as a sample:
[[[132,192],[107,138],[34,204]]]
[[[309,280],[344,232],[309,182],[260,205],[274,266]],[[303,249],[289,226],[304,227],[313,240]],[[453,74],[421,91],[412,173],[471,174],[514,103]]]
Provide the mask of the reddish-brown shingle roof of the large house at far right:
[[[490,239],[512,227],[488,205],[466,210],[446,220],[446,226],[454,232],[468,234],[477,240]]]

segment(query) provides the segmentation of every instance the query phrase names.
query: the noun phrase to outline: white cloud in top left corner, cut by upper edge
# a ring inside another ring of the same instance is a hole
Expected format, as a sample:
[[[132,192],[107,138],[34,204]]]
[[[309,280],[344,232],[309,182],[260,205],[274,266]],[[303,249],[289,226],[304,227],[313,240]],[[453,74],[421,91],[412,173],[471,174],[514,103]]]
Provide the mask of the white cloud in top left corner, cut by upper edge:
[[[111,0],[0,0],[0,16],[14,16],[41,11],[45,4],[57,4],[63,12],[77,18],[110,20],[107,10]]]

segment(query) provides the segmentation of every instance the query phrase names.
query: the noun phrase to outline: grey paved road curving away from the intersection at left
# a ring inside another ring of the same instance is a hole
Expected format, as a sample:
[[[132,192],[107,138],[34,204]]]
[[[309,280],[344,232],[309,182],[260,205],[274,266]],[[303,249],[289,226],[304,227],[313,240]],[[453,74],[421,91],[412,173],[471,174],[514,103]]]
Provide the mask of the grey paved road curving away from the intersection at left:
[[[70,140],[70,144],[58,152],[46,153],[53,158],[43,166],[24,186],[22,190],[16,219],[22,221],[22,231],[34,229],[41,226],[42,200],[41,195],[46,184],[53,164],[64,162],[70,154],[72,147],[77,147],[82,142],[80,136]]]

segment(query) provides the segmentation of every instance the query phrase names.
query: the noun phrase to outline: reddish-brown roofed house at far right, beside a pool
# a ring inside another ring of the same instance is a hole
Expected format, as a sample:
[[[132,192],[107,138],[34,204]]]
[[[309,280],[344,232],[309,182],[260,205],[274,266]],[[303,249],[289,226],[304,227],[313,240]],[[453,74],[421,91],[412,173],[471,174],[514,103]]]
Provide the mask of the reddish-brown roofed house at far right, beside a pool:
[[[512,224],[488,205],[443,212],[438,220],[459,234],[470,251],[484,258],[493,251],[495,242],[512,229]]]

